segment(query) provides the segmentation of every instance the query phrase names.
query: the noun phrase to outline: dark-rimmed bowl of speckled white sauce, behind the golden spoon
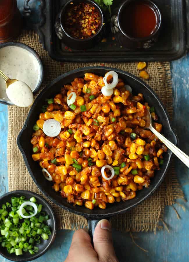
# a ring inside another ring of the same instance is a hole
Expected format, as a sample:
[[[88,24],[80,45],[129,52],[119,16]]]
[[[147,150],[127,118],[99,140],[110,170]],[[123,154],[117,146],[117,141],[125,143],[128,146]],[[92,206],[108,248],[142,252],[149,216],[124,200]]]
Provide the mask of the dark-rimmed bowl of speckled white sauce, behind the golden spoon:
[[[40,56],[28,45],[18,42],[0,44],[0,69],[10,78],[25,82],[33,94],[43,80],[43,65]],[[12,105],[6,95],[6,84],[0,77],[0,103]]]

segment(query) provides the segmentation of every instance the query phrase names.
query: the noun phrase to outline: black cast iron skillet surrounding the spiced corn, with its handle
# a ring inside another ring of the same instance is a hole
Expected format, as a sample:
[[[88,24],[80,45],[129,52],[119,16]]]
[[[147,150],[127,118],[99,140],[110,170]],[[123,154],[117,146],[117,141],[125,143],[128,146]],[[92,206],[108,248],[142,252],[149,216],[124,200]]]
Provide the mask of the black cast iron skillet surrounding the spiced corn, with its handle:
[[[174,145],[176,145],[177,139],[171,128],[168,113],[164,108],[162,102],[152,91],[152,89],[134,75],[115,68],[101,66],[79,68],[67,72],[51,82],[51,84],[47,86],[36,98],[28,114],[24,127],[22,128],[17,138],[18,147],[22,152],[28,171],[35,184],[39,187],[39,189],[44,193],[46,197],[48,197],[52,202],[54,202],[61,208],[84,216],[88,220],[89,232],[91,236],[94,232],[97,222],[100,219],[109,218],[114,215],[125,213],[126,210],[133,208],[135,205],[145,200],[158,188],[167,171],[172,152],[168,150],[167,153],[165,153],[164,164],[161,170],[156,171],[154,178],[151,180],[151,185],[149,186],[149,188],[139,190],[134,199],[128,200],[126,202],[121,201],[120,203],[107,204],[106,209],[95,208],[94,210],[90,210],[88,208],[85,208],[85,206],[73,206],[72,204],[67,203],[66,199],[63,199],[60,196],[59,192],[55,192],[54,189],[52,189],[50,183],[42,176],[39,163],[34,162],[31,157],[32,147],[30,144],[30,139],[33,133],[33,125],[38,119],[38,116],[41,112],[41,106],[44,104],[46,98],[54,97],[56,93],[59,93],[60,88],[63,87],[64,84],[69,84],[75,77],[83,77],[84,73],[86,72],[93,72],[97,75],[104,76],[106,72],[111,70],[117,72],[119,77],[122,78],[126,84],[129,84],[132,87],[133,94],[142,93],[149,105],[155,107],[156,113],[159,117],[159,122],[163,124],[163,134]]]

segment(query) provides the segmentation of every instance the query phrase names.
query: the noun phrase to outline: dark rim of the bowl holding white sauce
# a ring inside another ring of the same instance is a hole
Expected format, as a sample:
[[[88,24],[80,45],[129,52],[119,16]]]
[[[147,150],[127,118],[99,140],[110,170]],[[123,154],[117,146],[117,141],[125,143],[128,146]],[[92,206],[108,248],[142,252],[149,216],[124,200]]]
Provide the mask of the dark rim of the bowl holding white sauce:
[[[6,47],[6,46],[17,46],[17,47],[24,48],[28,52],[32,53],[35,56],[35,58],[37,59],[39,66],[40,66],[40,79],[39,79],[38,85],[36,86],[36,88],[33,91],[33,94],[35,95],[38,92],[38,90],[40,89],[40,86],[41,86],[42,81],[43,81],[43,76],[44,76],[43,63],[42,63],[40,56],[38,55],[38,53],[33,48],[31,48],[30,46],[28,46],[26,44],[20,43],[20,42],[2,43],[2,44],[0,44],[0,49],[3,48],[3,47]],[[9,103],[9,102],[1,99],[1,98],[0,98],[0,103],[5,104],[5,105],[13,105],[12,103]]]

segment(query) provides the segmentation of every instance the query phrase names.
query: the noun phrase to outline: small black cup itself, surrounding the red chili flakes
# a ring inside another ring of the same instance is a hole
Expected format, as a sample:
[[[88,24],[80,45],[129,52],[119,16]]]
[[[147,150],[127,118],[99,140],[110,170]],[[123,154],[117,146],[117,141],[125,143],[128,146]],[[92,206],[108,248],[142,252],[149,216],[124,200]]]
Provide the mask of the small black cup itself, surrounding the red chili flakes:
[[[75,5],[78,3],[89,3],[92,6],[95,6],[95,8],[98,10],[100,18],[101,18],[101,24],[99,27],[99,30],[97,31],[97,33],[89,38],[85,38],[85,39],[77,39],[74,38],[72,36],[70,36],[67,31],[64,28],[64,22],[63,22],[63,18],[65,16],[65,14],[67,13],[67,10],[71,5]],[[99,43],[101,41],[101,39],[103,38],[103,34],[104,34],[104,15],[103,12],[101,10],[101,8],[99,7],[99,5],[97,5],[97,3],[95,3],[95,1],[92,0],[70,0],[68,1],[60,10],[60,13],[57,15],[56,17],[56,22],[55,22],[55,31],[56,31],[56,35],[58,36],[58,38],[66,45],[68,45],[69,47],[73,48],[73,49],[77,49],[77,50],[83,50],[83,49],[88,49],[91,48],[95,45],[97,45],[97,43]]]

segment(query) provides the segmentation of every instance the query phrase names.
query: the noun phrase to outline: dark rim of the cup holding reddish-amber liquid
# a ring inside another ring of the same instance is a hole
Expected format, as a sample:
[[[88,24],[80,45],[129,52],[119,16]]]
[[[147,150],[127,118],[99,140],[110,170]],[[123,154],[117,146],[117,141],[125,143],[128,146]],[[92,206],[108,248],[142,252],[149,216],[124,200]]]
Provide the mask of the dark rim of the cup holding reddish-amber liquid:
[[[137,0],[126,0],[122,3],[122,5],[120,6],[119,10],[118,10],[118,14],[117,14],[117,24],[118,24],[118,27],[120,29],[120,31],[122,32],[122,34],[124,34],[125,37],[129,38],[130,40],[132,41],[147,41],[147,40],[150,40],[151,38],[153,38],[154,36],[156,36],[156,34],[158,33],[158,31],[161,29],[161,26],[162,26],[162,14],[161,14],[161,11],[160,11],[160,8],[158,7],[158,5],[156,3],[154,3],[153,1],[151,0],[143,0],[143,2],[146,2],[146,3],[149,3],[151,4],[152,6],[154,6],[159,14],[159,22],[158,22],[158,26],[156,27],[155,31],[147,36],[147,37],[139,37],[139,38],[136,38],[136,37],[133,37],[133,36],[129,36],[128,34],[126,34],[121,26],[121,15],[122,15],[122,11],[124,9],[124,7],[129,4],[129,3],[132,3],[132,2],[136,2]]]

